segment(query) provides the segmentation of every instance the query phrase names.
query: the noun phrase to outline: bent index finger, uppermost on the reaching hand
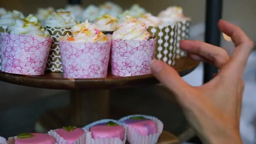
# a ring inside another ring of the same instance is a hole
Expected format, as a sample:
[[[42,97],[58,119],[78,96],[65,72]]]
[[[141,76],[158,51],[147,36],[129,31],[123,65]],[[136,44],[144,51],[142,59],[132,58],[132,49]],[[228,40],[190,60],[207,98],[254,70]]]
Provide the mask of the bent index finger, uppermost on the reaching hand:
[[[233,52],[229,63],[227,64],[227,73],[233,71],[236,72],[237,75],[242,75],[254,44],[243,32],[243,30],[234,24],[220,20],[219,29],[221,32],[224,32],[226,35],[231,37],[232,41],[236,45],[236,49]]]

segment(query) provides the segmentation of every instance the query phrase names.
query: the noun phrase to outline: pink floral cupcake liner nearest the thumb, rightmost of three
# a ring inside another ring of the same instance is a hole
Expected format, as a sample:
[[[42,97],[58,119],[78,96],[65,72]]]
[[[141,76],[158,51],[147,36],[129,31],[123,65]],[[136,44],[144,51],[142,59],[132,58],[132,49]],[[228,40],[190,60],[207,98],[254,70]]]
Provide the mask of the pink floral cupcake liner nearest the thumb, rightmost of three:
[[[111,72],[127,77],[151,74],[149,62],[155,56],[156,39],[112,40]]]

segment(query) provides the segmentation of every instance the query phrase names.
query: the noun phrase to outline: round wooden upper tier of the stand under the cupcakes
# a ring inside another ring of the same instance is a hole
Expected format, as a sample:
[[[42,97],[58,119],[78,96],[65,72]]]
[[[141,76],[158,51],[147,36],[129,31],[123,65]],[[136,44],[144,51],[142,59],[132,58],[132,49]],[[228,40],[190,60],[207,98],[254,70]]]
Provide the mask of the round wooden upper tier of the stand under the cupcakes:
[[[182,58],[176,61],[175,69],[181,76],[192,72],[199,62],[190,58]],[[48,89],[112,89],[112,88],[130,88],[142,85],[159,83],[154,75],[141,75],[133,77],[117,77],[108,72],[107,78],[97,79],[65,79],[62,73],[45,72],[44,76],[15,75],[0,72],[0,80],[17,85],[24,85],[37,88]]]

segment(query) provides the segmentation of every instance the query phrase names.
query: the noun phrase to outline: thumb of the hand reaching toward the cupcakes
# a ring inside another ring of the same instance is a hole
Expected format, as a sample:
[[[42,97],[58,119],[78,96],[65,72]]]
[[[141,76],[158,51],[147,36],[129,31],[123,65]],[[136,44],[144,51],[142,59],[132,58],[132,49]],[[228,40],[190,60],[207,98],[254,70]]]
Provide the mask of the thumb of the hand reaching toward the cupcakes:
[[[190,85],[179,76],[176,70],[163,61],[153,60],[150,63],[150,67],[157,80],[176,95],[184,96],[186,91],[190,88]]]

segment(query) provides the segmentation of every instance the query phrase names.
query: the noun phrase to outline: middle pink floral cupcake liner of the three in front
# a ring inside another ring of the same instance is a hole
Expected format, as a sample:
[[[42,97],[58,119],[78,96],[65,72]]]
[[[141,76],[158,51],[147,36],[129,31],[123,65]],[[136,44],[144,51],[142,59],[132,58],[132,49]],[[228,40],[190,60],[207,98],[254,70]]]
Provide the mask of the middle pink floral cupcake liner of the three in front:
[[[84,43],[59,39],[65,78],[107,77],[111,37],[104,43]]]

